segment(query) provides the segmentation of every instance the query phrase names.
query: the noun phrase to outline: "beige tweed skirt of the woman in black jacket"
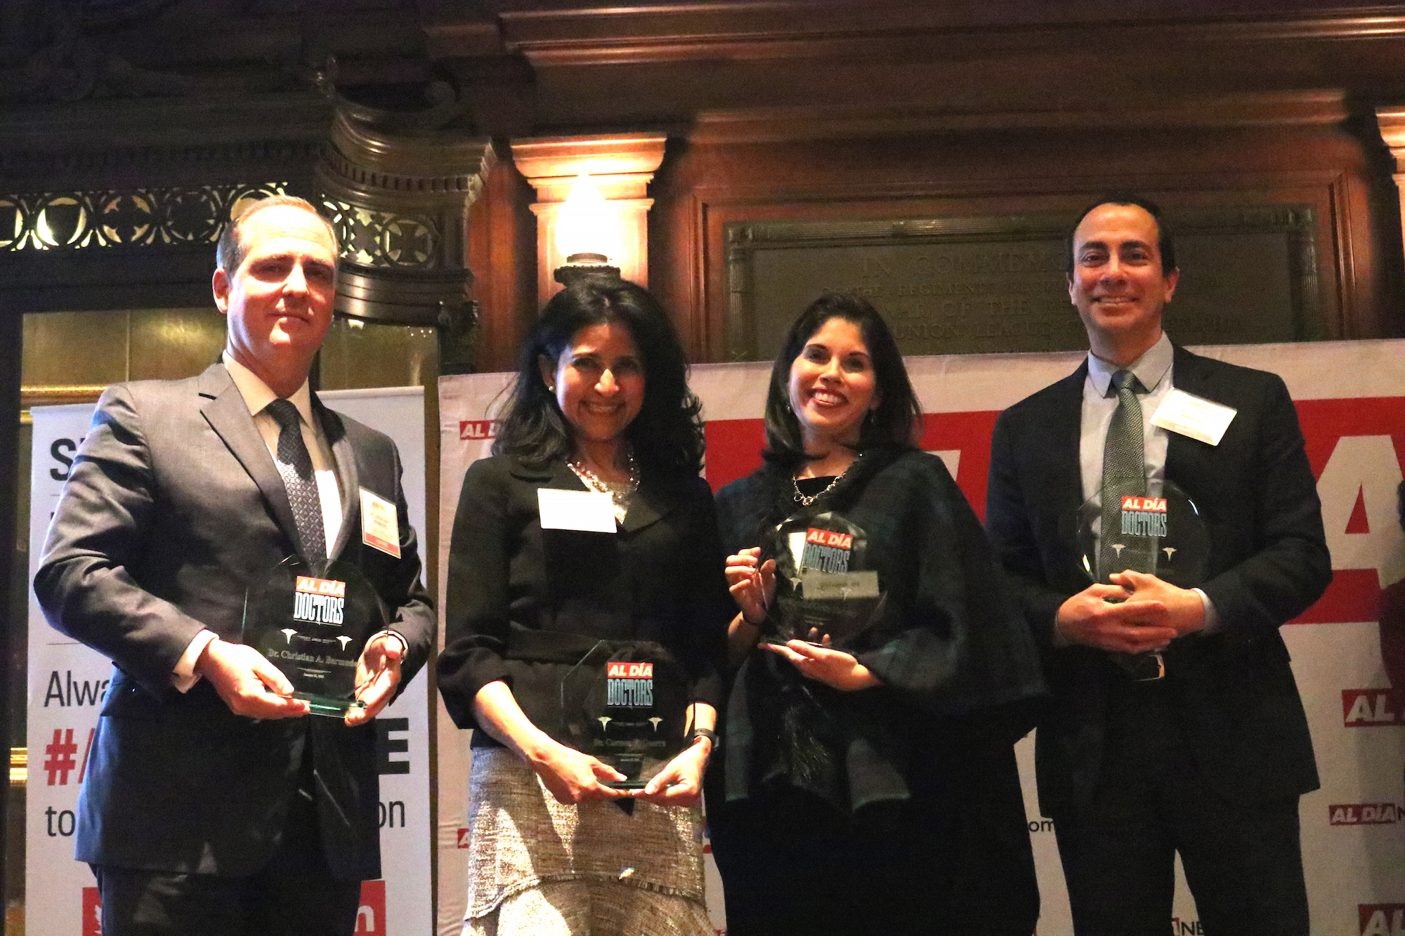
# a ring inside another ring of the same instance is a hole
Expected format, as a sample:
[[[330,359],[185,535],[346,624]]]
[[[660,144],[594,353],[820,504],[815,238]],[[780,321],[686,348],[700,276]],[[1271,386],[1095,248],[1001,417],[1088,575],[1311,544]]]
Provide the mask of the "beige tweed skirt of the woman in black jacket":
[[[711,936],[702,811],[563,805],[503,748],[473,750],[464,936]]]

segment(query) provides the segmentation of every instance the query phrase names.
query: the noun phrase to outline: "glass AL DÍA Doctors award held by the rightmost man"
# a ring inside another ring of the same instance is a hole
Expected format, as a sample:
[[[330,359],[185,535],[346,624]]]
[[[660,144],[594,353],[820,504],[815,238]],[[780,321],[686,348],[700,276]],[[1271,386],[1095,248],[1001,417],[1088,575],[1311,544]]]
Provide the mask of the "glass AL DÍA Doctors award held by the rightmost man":
[[[1205,580],[1210,565],[1210,531],[1200,509],[1169,481],[1128,481],[1104,485],[1100,503],[1079,509],[1079,550],[1083,569],[1093,582],[1110,585],[1118,572],[1155,575],[1176,587],[1190,589]],[[1134,679],[1161,679],[1159,652],[1113,654]]]

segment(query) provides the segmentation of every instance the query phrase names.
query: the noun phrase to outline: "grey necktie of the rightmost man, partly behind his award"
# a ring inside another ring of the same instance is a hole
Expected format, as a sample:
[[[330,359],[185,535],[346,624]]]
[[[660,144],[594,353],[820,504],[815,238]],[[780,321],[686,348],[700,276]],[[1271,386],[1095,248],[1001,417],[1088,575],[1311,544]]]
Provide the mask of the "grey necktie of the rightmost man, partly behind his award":
[[[1144,388],[1131,371],[1113,374],[1111,389],[1117,392],[1117,409],[1107,426],[1107,441],[1103,443],[1103,528],[1099,535],[1099,559],[1102,576],[1113,572],[1135,569],[1151,572],[1149,544],[1141,548],[1124,542],[1121,535],[1123,498],[1146,495],[1146,448],[1141,417],[1141,402],[1137,394]]]

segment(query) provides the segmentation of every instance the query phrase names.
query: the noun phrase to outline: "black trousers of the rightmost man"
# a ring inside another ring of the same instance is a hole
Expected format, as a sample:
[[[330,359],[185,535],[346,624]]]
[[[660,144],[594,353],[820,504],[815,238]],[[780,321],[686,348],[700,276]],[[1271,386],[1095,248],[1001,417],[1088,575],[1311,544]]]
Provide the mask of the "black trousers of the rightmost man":
[[[1116,684],[1092,807],[1054,831],[1076,936],[1165,936],[1177,852],[1207,936],[1308,936],[1297,797],[1215,793],[1161,682]]]

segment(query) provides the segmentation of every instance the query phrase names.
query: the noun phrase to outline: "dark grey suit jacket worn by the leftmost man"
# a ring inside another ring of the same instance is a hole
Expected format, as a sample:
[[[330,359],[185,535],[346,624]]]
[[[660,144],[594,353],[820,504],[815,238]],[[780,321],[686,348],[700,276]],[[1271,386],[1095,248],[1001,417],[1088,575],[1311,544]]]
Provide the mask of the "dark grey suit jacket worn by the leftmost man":
[[[341,534],[333,555],[362,569],[409,654],[429,654],[400,462],[384,434],[313,406],[336,461]],[[400,559],[361,542],[358,488],[399,509]],[[115,867],[240,877],[278,845],[311,739],[332,870],[379,877],[374,728],[332,718],[256,721],[207,682],[171,670],[209,628],[239,641],[246,587],[296,551],[273,457],[223,364],[184,381],[103,394],[34,580],[49,623],[115,663],[79,800],[77,857]]]

